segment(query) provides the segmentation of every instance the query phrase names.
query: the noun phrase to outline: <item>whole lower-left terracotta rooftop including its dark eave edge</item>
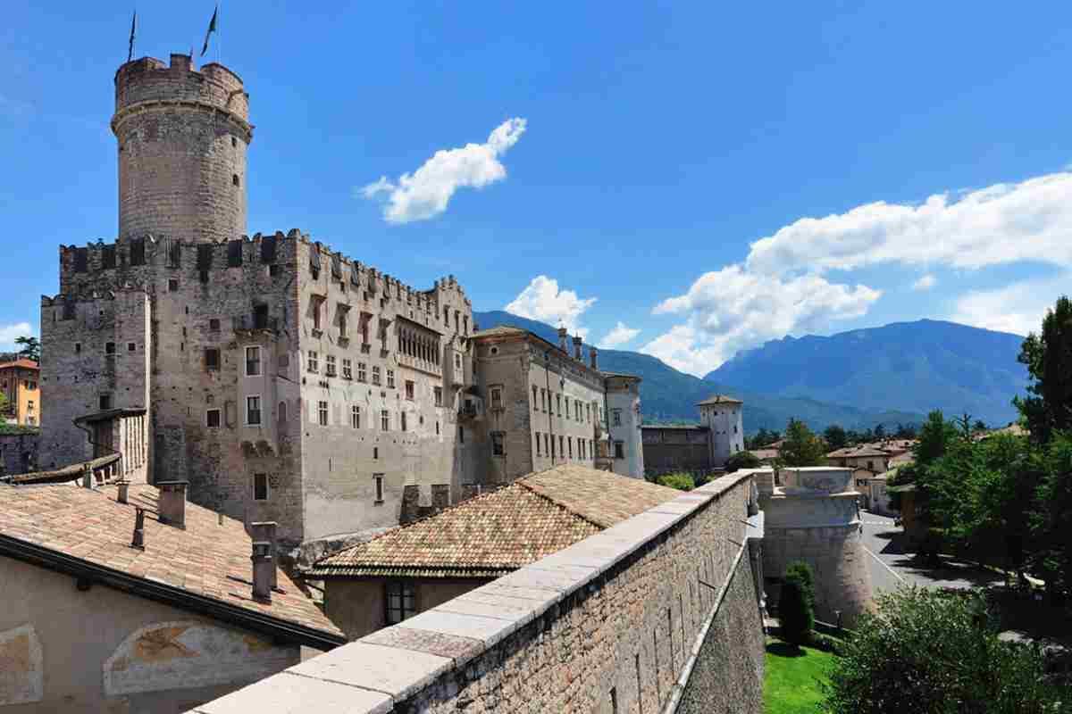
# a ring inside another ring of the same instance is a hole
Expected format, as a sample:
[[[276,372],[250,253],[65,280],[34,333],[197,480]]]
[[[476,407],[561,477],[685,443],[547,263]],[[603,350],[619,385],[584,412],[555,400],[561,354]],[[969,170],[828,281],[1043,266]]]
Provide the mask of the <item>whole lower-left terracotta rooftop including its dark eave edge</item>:
[[[243,525],[185,504],[185,529],[158,519],[159,491],[117,486],[0,485],[0,555],[71,573],[175,607],[321,649],[345,642],[311,599],[279,571],[271,603],[252,597],[252,541]],[[146,510],[145,550],[131,547],[135,506]]]

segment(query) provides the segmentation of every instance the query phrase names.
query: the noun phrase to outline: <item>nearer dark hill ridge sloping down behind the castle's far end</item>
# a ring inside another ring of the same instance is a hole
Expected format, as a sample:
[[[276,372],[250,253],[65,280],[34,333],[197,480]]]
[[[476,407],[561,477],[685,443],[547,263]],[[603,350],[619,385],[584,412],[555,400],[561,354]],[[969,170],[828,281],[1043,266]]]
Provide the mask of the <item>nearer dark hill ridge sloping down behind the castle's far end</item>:
[[[528,330],[553,345],[559,341],[555,328],[503,310],[474,313],[474,319],[481,329],[512,324]],[[643,380],[640,383],[640,400],[645,422],[696,422],[700,417],[696,404],[715,392],[744,400],[744,427],[748,434],[761,427],[781,430],[790,417],[804,420],[814,429],[822,429],[835,423],[846,428],[860,429],[876,424],[889,427],[898,423],[920,423],[923,420],[922,413],[865,410],[824,404],[816,399],[769,396],[751,390],[723,385],[678,371],[662,361],[640,352],[599,350],[599,367],[608,371],[634,374]]]

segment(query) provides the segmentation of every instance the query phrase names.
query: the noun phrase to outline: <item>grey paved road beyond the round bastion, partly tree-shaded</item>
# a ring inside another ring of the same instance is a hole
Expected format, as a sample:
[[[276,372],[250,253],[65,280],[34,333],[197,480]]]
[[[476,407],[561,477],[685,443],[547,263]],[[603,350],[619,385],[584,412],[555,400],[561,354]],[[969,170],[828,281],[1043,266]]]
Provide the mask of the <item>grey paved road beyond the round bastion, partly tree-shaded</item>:
[[[939,567],[923,567],[906,552],[904,531],[893,525],[893,518],[862,511],[863,545],[870,564],[872,589],[876,594],[895,590],[902,584],[930,588],[976,588],[1000,582],[1001,576],[963,561],[942,558]]]

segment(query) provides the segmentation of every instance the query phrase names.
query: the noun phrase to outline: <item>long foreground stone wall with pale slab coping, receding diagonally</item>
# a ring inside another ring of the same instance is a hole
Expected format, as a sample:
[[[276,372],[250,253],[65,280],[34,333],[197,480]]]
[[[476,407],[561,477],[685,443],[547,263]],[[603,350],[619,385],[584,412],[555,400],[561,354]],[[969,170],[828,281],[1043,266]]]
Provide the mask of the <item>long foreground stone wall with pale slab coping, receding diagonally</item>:
[[[196,711],[612,714],[684,701],[685,711],[758,714],[750,492],[750,475],[724,476]],[[715,668],[725,686],[710,686]],[[684,671],[704,684],[679,682]]]

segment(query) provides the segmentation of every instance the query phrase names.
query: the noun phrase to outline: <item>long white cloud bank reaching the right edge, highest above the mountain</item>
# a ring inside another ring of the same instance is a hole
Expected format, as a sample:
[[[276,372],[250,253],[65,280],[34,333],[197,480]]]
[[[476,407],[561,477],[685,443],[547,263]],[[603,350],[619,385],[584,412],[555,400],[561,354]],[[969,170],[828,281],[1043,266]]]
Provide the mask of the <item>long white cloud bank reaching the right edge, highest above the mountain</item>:
[[[878,201],[801,218],[751,244],[750,271],[852,270],[877,263],[978,269],[1072,262],[1072,173],[935,194],[919,206]]]

